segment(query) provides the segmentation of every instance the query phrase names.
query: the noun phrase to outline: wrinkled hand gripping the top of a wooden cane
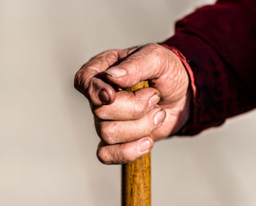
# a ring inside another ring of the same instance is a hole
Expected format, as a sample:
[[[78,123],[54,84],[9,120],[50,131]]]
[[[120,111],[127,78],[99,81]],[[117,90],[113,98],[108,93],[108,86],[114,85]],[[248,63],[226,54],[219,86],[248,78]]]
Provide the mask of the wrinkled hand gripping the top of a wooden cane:
[[[148,80],[150,88],[127,92]],[[89,99],[102,139],[97,156],[104,164],[124,164],[148,153],[154,141],[175,134],[189,118],[187,71],[175,53],[149,44],[107,50],[75,75],[75,88]]]

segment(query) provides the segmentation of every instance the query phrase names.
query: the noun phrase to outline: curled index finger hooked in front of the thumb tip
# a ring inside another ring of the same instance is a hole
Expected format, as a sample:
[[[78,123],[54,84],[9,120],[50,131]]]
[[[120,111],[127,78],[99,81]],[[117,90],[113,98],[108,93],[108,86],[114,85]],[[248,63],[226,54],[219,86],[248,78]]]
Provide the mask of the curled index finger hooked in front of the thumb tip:
[[[91,58],[76,73],[75,88],[94,105],[111,104],[116,99],[116,92],[110,84],[105,83],[102,72],[117,64],[132,50],[135,47],[127,50],[107,50]]]

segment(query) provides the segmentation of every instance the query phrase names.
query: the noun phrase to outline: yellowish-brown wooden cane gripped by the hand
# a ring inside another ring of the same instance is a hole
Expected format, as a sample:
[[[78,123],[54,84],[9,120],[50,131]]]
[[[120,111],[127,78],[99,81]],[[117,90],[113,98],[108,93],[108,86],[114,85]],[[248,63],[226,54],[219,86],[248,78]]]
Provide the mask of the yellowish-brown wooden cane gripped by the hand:
[[[148,87],[148,81],[143,81],[127,88],[136,91]],[[122,206],[150,206],[151,205],[151,153],[140,157],[136,161],[122,164],[121,205]]]

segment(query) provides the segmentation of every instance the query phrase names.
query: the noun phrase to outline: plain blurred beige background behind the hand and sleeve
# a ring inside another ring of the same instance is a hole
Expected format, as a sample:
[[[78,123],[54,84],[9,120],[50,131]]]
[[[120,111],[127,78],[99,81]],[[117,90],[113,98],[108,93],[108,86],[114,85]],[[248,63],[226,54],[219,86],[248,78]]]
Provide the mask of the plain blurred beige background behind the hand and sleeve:
[[[110,48],[157,42],[211,0],[0,0],[0,206],[120,205],[120,167],[97,161],[75,72]],[[256,205],[256,113],[152,151],[152,203]]]

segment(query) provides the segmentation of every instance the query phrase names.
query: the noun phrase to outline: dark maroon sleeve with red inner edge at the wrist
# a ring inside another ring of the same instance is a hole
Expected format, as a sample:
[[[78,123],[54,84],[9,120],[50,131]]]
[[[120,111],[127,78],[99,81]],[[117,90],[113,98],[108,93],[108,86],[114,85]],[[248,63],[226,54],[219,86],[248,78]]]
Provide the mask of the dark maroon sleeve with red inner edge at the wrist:
[[[178,135],[194,135],[256,107],[256,0],[219,0],[176,23],[164,42],[186,58],[195,81],[191,118]]]

